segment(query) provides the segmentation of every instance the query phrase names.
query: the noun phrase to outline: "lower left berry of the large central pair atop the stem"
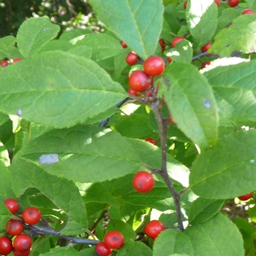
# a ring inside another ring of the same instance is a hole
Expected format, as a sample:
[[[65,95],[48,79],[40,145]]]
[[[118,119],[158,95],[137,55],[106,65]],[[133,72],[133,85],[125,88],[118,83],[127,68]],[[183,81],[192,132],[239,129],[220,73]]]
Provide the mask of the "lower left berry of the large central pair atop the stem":
[[[151,85],[151,78],[142,70],[135,70],[129,77],[129,86],[134,91],[145,91]]]

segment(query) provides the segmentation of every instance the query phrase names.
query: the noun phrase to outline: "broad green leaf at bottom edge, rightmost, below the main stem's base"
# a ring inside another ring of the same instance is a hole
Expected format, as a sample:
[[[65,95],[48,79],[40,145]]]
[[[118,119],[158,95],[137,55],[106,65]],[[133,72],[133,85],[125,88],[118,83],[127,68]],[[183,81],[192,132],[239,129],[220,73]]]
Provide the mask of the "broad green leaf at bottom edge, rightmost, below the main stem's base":
[[[222,214],[187,227],[184,234],[189,236],[197,256],[244,255],[241,233],[236,225]]]

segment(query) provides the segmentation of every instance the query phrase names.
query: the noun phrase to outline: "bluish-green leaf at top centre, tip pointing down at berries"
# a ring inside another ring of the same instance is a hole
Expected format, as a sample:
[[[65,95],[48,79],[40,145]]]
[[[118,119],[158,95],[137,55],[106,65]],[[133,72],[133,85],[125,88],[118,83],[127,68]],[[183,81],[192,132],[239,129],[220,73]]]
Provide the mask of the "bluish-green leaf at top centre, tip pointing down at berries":
[[[147,59],[154,54],[162,31],[162,1],[91,0],[90,4],[99,20],[138,56]]]

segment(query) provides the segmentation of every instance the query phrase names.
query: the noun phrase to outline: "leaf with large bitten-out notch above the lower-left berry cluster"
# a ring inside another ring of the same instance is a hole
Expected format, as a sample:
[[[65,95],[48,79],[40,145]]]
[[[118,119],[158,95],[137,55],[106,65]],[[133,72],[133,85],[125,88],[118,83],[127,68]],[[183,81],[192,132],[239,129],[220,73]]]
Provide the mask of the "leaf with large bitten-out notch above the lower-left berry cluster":
[[[78,235],[87,228],[86,207],[78,187],[72,181],[51,176],[25,159],[16,159],[11,166],[13,189],[21,195],[29,187],[36,187],[49,198],[64,214],[68,221],[61,234]],[[79,211],[78,211],[79,209]]]

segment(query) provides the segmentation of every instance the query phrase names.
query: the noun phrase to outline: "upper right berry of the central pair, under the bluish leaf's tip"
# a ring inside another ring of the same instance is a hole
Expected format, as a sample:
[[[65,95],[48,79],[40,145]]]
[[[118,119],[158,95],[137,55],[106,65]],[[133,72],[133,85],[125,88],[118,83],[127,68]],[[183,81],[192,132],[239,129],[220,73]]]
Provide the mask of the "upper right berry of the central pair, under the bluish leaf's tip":
[[[146,74],[152,77],[157,77],[161,75],[165,70],[165,61],[159,56],[150,56],[143,63],[143,69]]]

